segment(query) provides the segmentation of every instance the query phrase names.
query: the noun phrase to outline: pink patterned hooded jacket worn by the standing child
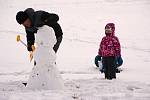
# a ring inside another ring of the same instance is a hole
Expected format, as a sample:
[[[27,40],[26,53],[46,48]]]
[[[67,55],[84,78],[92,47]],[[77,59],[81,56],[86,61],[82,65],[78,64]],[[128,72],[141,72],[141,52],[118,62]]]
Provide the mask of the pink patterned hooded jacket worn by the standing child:
[[[104,36],[100,43],[98,54],[102,57],[121,56],[121,47],[119,39],[115,36],[114,23],[108,23],[105,27],[111,27],[112,33]]]

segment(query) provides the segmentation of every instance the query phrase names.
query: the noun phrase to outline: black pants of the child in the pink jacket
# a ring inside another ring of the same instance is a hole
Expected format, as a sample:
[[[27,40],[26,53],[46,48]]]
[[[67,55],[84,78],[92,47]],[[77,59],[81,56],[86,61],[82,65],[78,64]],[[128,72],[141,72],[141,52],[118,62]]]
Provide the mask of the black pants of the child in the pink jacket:
[[[102,57],[104,73],[106,79],[116,78],[115,57]]]

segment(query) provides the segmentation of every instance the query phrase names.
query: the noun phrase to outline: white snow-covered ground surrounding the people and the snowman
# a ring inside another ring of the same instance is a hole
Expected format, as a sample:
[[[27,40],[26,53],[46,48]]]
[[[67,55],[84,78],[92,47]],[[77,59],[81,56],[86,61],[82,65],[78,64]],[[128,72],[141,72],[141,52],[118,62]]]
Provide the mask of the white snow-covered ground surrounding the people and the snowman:
[[[33,63],[15,41],[23,26],[19,10],[33,7],[60,16],[64,39],[57,53],[63,91],[31,91],[27,81]],[[0,100],[150,100],[149,0],[0,0]],[[105,80],[94,66],[107,22],[116,24],[122,46],[123,72]]]

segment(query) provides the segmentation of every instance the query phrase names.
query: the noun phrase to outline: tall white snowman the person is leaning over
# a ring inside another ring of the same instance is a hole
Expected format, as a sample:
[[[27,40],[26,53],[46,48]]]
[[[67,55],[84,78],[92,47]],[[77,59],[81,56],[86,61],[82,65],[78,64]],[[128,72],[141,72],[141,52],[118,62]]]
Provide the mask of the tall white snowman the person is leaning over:
[[[53,46],[56,37],[53,28],[44,25],[38,28],[34,51],[36,65],[33,67],[27,82],[27,89],[32,90],[60,90],[63,89],[63,80],[56,68],[56,54]]]

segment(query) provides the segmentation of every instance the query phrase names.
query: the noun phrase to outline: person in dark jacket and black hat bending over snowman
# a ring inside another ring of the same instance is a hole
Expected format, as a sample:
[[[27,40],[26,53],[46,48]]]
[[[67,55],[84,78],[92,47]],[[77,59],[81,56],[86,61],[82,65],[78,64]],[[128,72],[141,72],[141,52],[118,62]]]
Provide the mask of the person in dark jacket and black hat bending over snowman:
[[[19,11],[17,13],[16,20],[25,27],[28,51],[32,51],[31,46],[34,45],[35,42],[34,33],[37,33],[38,27],[48,25],[52,27],[55,32],[57,42],[53,49],[57,52],[63,38],[63,32],[61,26],[58,24],[59,16],[57,14],[42,10],[34,11],[32,8],[27,8],[25,11]]]

